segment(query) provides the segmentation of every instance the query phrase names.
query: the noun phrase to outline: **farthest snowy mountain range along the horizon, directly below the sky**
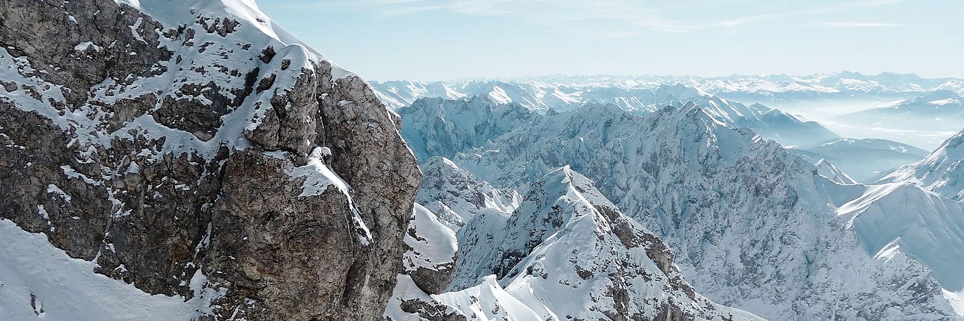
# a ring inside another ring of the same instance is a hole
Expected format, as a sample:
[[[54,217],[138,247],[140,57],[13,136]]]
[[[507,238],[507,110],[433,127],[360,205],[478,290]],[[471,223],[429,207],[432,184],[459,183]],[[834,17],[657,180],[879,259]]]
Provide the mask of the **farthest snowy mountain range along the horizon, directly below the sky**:
[[[588,102],[586,97],[625,97],[608,103],[627,110],[646,106],[632,97],[648,97],[648,91],[661,85],[683,85],[713,92],[736,101],[773,102],[805,101],[819,98],[852,96],[907,97],[913,93],[951,90],[964,93],[964,80],[956,78],[926,79],[915,74],[884,72],[864,75],[840,72],[813,75],[732,75],[724,77],[695,76],[547,76],[500,80],[446,81],[417,83],[407,81],[372,82],[379,97],[392,108],[411,105],[419,97],[457,99],[473,95],[508,98],[518,103],[535,105],[564,104],[577,107]],[[498,87],[498,89],[495,89]],[[504,92],[504,94],[502,94]],[[528,93],[527,93],[528,92]],[[602,95],[598,95],[603,93]],[[519,95],[517,95],[519,94]],[[524,97],[524,98],[522,98]],[[580,99],[581,98],[581,99]],[[507,102],[507,101],[503,101]],[[563,106],[563,105],[559,105]],[[561,107],[553,107],[560,108]]]

